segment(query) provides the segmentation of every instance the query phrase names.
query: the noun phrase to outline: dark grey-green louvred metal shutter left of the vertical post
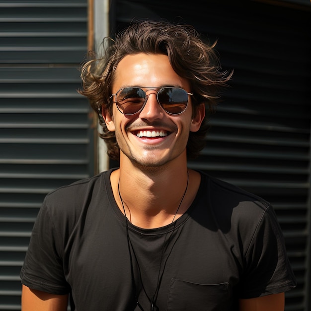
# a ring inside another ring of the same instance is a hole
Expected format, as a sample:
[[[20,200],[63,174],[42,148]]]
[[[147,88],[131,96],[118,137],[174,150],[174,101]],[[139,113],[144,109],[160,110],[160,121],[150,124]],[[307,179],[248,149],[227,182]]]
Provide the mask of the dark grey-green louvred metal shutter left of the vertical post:
[[[89,106],[76,91],[86,52],[87,0],[0,1],[0,310],[20,310],[44,196],[94,173]]]

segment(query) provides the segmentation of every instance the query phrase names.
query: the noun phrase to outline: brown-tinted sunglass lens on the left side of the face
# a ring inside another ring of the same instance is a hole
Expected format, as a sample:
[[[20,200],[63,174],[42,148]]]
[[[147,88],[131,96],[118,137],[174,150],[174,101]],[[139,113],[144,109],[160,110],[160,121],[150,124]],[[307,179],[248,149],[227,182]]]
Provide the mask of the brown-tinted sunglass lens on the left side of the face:
[[[139,87],[126,87],[116,94],[117,107],[123,114],[137,113],[145,102],[145,92]]]

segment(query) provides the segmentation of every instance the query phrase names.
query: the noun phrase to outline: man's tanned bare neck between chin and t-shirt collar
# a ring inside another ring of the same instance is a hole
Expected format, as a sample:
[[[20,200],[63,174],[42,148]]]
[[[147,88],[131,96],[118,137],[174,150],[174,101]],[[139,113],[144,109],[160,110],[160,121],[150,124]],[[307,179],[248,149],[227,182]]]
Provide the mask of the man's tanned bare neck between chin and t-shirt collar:
[[[191,170],[189,172],[190,184],[194,172]],[[128,220],[141,228],[162,227],[180,217],[189,207],[189,198],[191,198],[188,191],[183,198],[187,182],[186,165],[175,169],[172,166],[166,169],[159,168],[152,172],[142,172],[133,167],[131,169],[121,167],[111,176],[114,196],[120,210],[124,213],[123,201]]]

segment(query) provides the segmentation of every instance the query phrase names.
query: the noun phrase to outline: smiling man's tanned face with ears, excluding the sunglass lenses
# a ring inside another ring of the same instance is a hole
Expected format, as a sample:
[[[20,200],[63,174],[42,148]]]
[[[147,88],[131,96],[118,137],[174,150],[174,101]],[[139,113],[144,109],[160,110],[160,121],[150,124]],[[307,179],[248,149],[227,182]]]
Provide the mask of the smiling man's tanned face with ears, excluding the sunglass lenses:
[[[177,86],[191,92],[187,79],[179,77],[168,57],[162,54],[125,56],[118,64],[112,93],[128,86],[148,87],[145,107],[134,115],[123,115],[113,104],[112,115],[103,111],[108,130],[115,131],[120,147],[120,165],[130,160],[146,167],[186,160],[186,145],[190,131],[197,131],[204,118],[204,106],[192,116],[191,96],[186,110],[179,115],[166,113],[156,99],[160,87]],[[145,88],[147,87],[147,88]],[[113,97],[115,100],[115,96]]]

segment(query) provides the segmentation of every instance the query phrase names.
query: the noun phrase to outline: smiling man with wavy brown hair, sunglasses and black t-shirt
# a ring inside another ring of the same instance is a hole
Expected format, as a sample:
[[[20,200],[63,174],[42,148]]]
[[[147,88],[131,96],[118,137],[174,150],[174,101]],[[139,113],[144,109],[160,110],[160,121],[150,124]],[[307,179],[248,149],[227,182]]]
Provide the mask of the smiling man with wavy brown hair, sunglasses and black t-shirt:
[[[119,169],[45,198],[23,311],[281,311],[296,285],[272,207],[187,168],[231,78],[190,26],[144,21],[82,69]],[[206,111],[207,109],[207,111]]]

